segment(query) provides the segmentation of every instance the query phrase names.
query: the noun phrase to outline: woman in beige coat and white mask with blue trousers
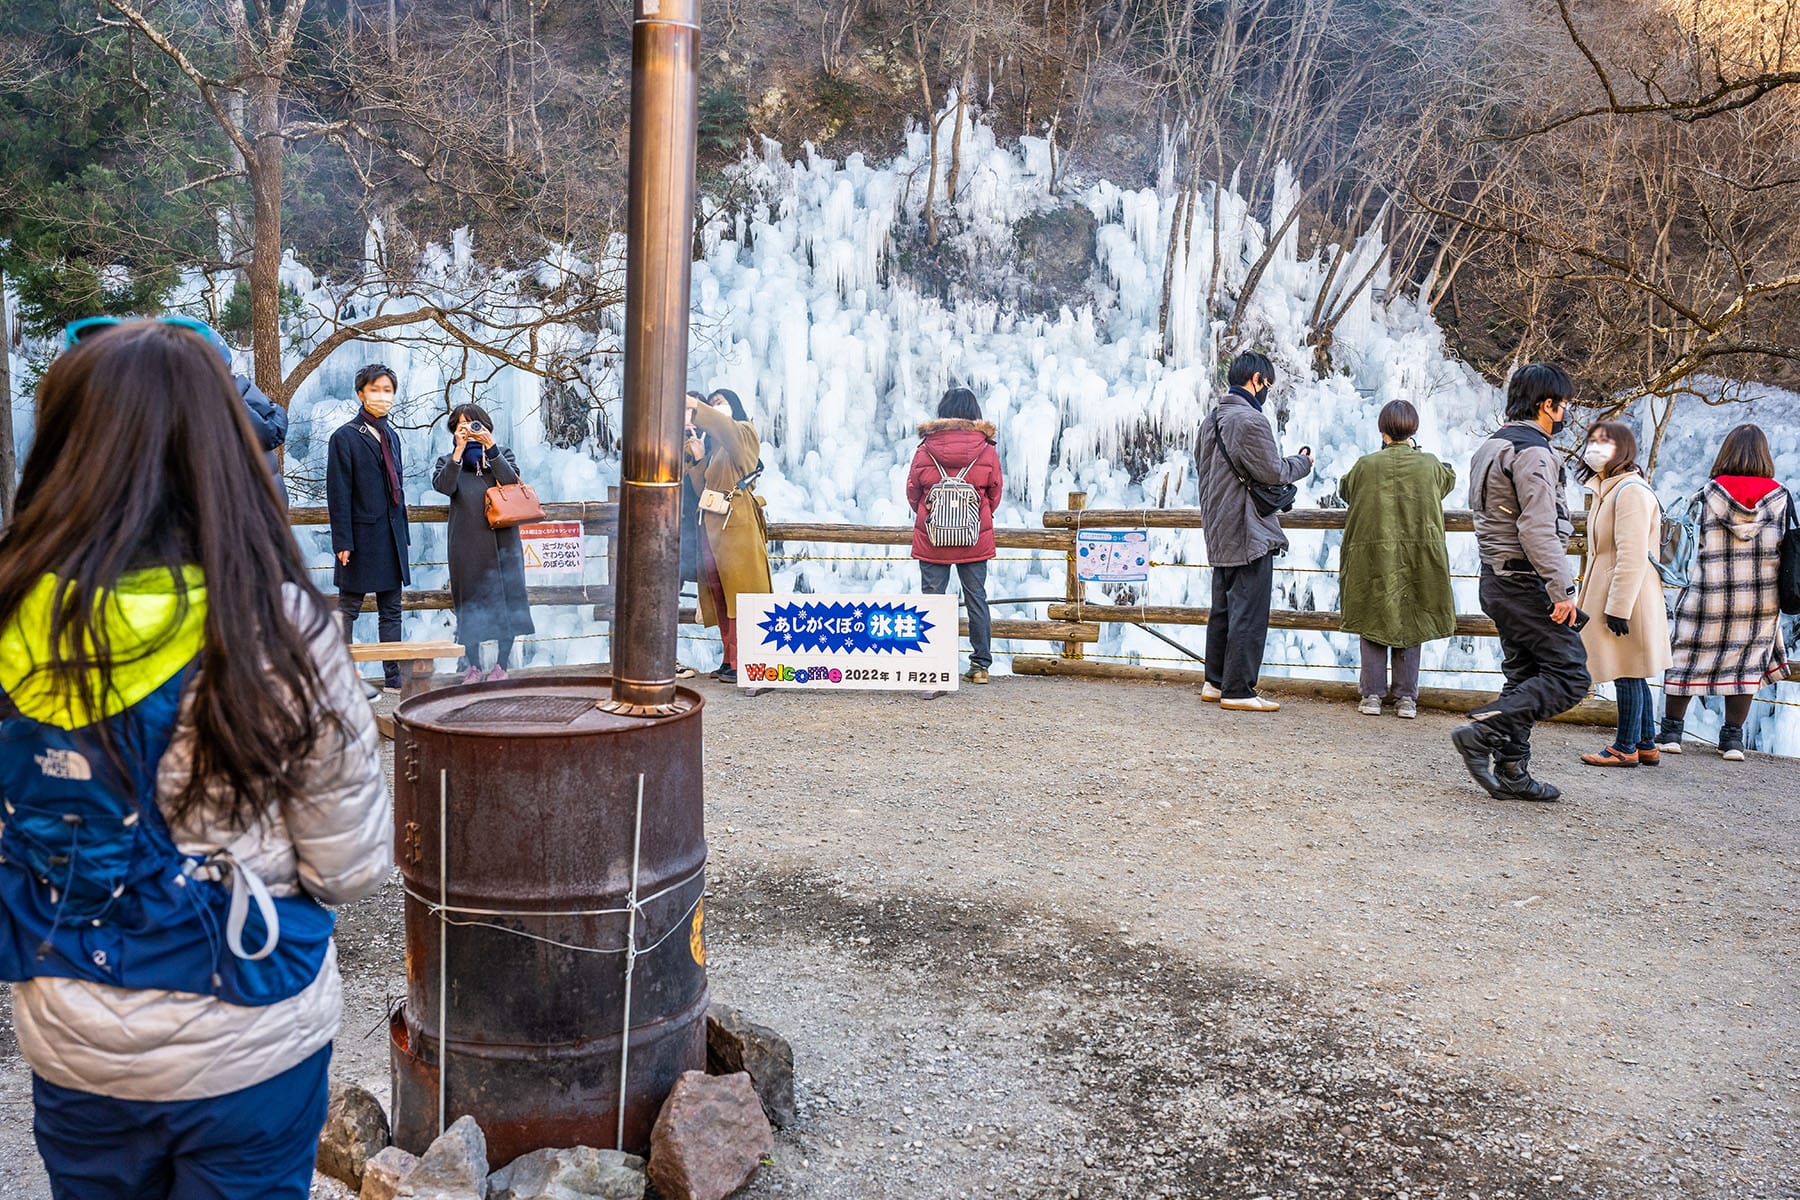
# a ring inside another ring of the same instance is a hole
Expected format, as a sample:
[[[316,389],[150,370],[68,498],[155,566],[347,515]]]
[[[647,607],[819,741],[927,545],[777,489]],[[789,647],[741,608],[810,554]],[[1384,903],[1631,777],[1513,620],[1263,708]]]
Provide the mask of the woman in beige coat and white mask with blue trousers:
[[[1638,470],[1638,437],[1627,425],[1602,421],[1588,430],[1582,477],[1593,488],[1588,513],[1588,574],[1577,604],[1588,613],[1580,639],[1595,684],[1618,693],[1613,745],[1584,754],[1589,766],[1651,766],[1656,718],[1652,676],[1669,669],[1669,615],[1663,579],[1651,561],[1663,524],[1663,506]]]

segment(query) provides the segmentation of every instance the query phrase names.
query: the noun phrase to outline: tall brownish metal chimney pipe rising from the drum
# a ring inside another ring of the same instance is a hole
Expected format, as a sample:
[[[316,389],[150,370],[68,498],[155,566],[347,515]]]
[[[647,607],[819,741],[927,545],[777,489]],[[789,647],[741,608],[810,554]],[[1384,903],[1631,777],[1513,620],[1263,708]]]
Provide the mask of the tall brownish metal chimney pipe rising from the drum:
[[[688,390],[700,0],[635,0],[625,259],[625,452],[612,700],[628,716],[679,711],[680,434]]]

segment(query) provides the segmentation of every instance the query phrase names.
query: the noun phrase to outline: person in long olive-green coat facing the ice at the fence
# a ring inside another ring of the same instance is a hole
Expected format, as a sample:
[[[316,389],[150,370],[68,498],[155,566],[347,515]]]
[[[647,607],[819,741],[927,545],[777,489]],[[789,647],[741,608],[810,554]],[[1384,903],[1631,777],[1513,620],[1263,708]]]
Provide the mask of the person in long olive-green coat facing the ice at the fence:
[[[1424,642],[1456,631],[1444,497],[1456,470],[1413,444],[1418,410],[1395,399],[1381,410],[1381,450],[1357,459],[1337,495],[1350,504],[1339,561],[1345,633],[1363,635],[1363,716],[1381,716],[1393,669],[1395,716],[1418,716]]]

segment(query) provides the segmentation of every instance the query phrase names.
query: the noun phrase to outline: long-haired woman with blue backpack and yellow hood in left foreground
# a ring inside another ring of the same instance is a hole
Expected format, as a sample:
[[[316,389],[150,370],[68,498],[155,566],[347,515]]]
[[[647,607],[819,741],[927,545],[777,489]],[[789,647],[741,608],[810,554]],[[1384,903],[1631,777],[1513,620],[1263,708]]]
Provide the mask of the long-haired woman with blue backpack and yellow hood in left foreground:
[[[58,1200],[311,1186],[331,914],[392,864],[373,714],[198,336],[38,385],[0,533],[0,979]]]

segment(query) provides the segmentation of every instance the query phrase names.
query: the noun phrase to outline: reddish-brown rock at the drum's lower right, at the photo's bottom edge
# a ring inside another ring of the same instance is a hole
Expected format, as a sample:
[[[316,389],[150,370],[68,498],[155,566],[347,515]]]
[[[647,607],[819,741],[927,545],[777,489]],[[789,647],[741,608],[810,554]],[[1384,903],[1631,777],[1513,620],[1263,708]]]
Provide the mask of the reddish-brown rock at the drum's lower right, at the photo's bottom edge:
[[[662,1200],[724,1200],[774,1148],[749,1074],[684,1070],[650,1132],[650,1182]]]

